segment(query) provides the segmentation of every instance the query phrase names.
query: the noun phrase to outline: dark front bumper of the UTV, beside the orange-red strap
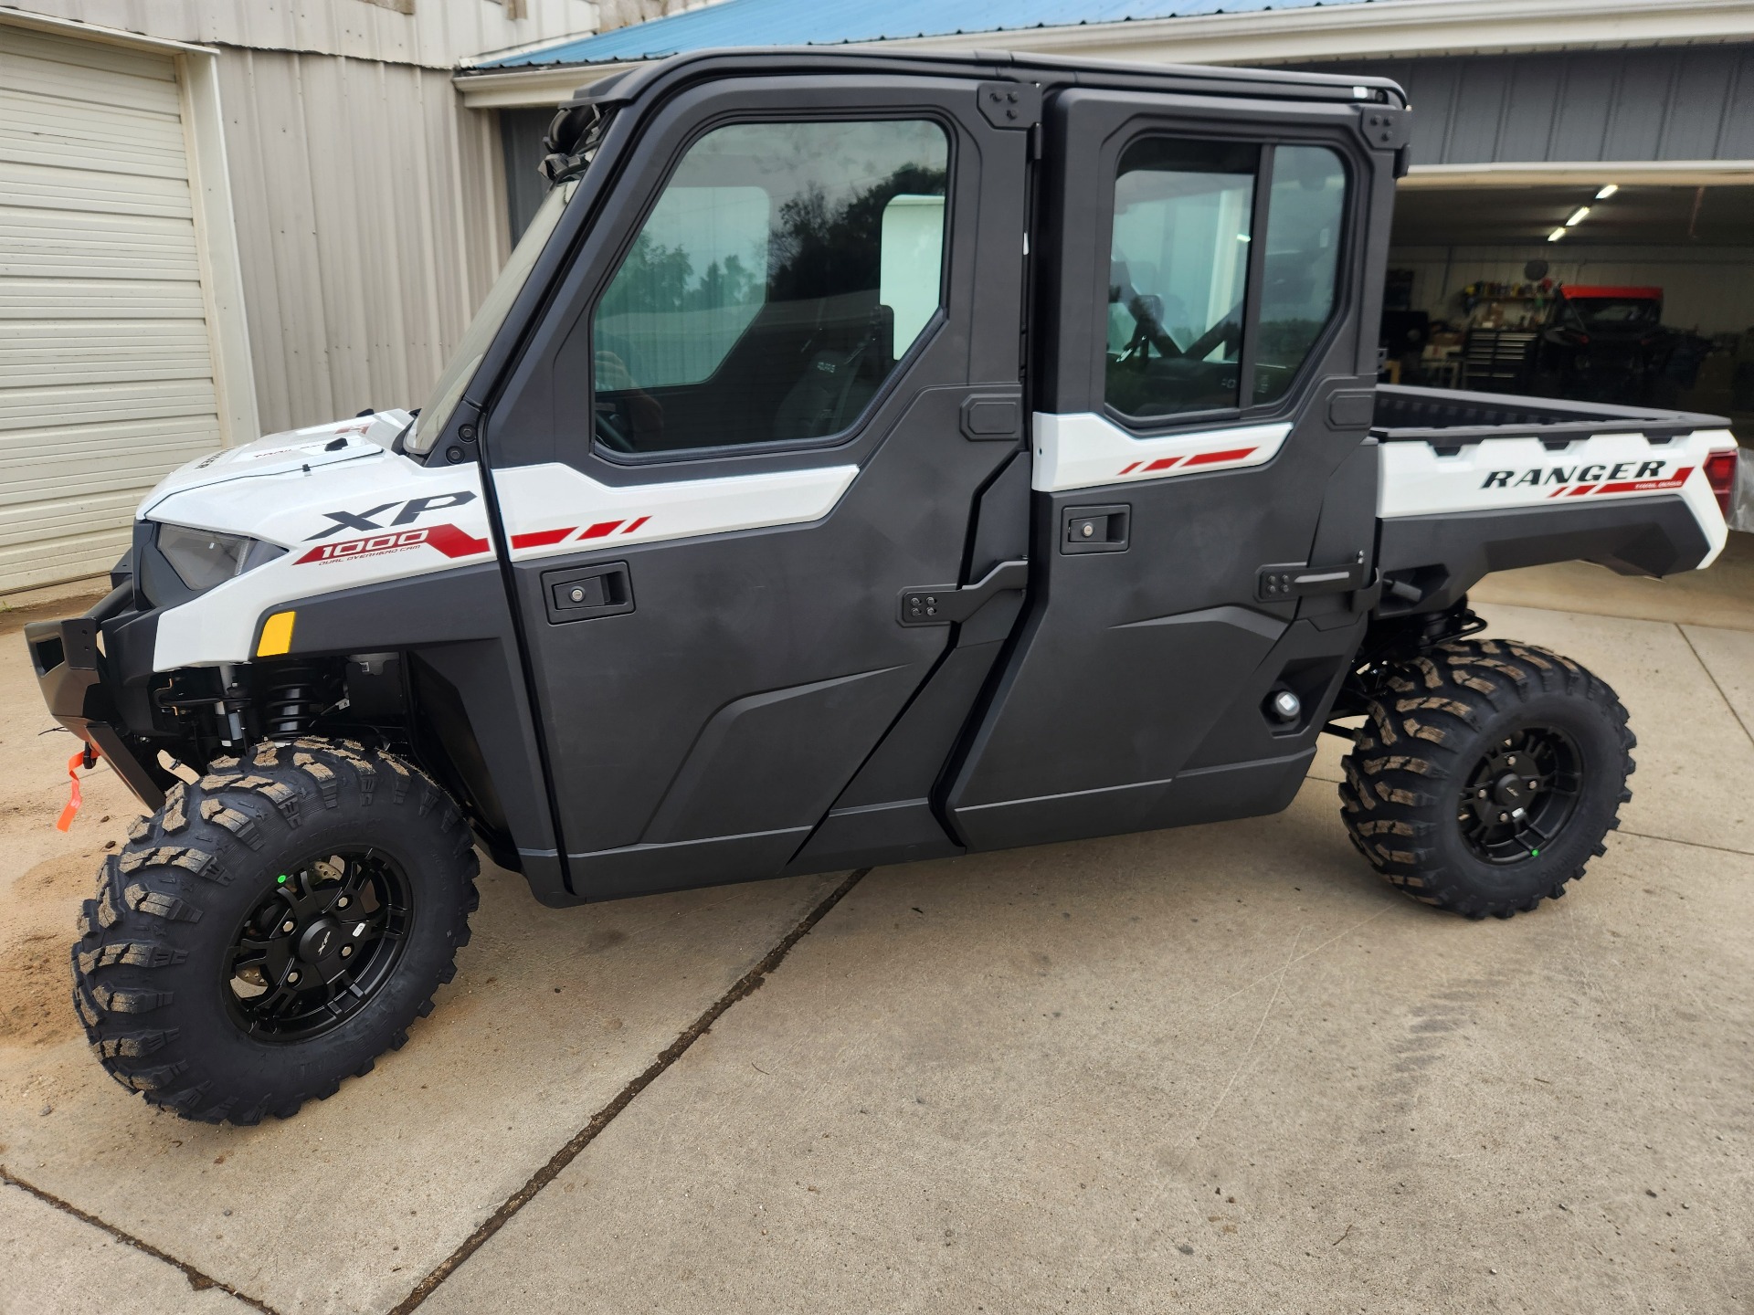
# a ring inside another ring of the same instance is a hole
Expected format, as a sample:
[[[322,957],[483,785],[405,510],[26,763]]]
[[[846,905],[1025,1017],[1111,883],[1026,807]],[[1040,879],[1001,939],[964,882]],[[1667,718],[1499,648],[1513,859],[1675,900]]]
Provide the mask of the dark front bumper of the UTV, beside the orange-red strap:
[[[165,791],[125,738],[118,682],[103,652],[109,645],[98,643],[103,622],[132,607],[133,582],[128,580],[82,615],[32,621],[25,626],[25,643],[51,715],[109,759],[147,812],[156,812],[165,803]]]

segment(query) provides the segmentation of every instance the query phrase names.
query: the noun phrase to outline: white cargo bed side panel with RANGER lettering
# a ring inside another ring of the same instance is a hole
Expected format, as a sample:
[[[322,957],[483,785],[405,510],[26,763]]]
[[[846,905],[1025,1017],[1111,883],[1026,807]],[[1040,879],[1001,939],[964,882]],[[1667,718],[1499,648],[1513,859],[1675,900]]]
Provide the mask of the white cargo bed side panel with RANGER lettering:
[[[1733,452],[1728,430],[1696,430],[1666,444],[1642,433],[1598,433],[1547,451],[1535,437],[1486,438],[1440,456],[1426,442],[1387,442],[1380,454],[1377,515],[1445,515],[1510,507],[1584,505],[1603,498],[1675,493],[1698,519],[1710,566],[1729,531],[1705,479],[1705,458]]]

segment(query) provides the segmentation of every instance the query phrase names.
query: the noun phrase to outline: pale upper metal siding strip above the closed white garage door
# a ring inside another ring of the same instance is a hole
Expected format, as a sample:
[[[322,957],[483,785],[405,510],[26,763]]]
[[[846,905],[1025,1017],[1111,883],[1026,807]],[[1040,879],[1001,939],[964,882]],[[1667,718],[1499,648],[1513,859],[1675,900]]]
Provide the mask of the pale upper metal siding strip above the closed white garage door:
[[[410,12],[367,0],[21,0],[16,7],[167,40],[428,68],[598,26],[591,0],[412,0]]]

